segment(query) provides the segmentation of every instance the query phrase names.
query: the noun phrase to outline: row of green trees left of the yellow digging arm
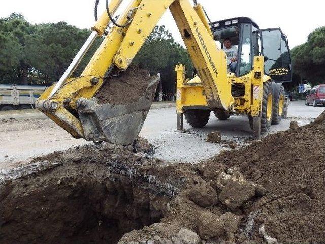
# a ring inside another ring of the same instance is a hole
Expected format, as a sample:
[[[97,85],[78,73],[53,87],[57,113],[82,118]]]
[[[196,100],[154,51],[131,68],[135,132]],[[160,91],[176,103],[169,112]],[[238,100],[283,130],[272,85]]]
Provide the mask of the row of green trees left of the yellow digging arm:
[[[57,81],[90,34],[64,22],[30,25],[21,14],[0,19],[0,82]],[[79,75],[101,40],[98,39],[75,72]]]

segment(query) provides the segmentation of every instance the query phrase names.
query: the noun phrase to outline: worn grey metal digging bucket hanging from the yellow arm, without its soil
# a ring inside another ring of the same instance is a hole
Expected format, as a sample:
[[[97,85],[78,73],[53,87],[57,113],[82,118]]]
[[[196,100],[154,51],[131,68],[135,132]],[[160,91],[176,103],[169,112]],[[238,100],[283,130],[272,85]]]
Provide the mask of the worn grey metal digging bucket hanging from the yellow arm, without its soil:
[[[155,96],[160,74],[151,78],[145,94],[126,104],[101,103],[100,99],[80,98],[77,103],[79,120],[88,141],[131,144],[139,135]]]

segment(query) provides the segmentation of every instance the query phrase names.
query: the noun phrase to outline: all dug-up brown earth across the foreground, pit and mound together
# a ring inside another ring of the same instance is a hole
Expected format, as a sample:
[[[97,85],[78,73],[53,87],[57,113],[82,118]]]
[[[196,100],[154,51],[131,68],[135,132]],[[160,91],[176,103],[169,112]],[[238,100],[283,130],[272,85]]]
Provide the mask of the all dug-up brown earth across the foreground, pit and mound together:
[[[0,172],[0,242],[324,243],[324,135],[325,112],[197,165],[106,143],[37,158]]]

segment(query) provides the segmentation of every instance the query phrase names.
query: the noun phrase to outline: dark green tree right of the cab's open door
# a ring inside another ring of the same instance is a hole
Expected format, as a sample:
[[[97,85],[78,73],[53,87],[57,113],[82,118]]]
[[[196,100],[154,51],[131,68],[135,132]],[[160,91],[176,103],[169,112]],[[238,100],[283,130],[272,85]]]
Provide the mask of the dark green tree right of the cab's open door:
[[[307,42],[291,50],[294,72],[312,85],[325,83],[325,26],[308,35]],[[300,79],[296,80],[298,84]]]

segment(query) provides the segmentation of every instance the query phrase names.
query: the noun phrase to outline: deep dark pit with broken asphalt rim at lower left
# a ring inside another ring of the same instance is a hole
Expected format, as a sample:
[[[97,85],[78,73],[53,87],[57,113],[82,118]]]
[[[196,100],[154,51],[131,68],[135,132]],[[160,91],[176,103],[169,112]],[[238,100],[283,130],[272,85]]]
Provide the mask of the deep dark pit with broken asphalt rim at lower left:
[[[0,242],[117,243],[159,222],[178,188],[121,150],[83,147],[0,175]]]

